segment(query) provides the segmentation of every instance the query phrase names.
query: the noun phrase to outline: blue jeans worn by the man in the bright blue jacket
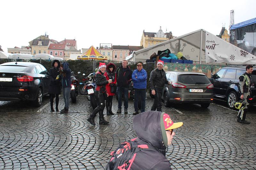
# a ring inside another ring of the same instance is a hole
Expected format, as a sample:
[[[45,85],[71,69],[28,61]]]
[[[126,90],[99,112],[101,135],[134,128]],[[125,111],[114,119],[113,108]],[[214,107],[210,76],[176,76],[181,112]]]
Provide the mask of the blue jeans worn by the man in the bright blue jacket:
[[[139,111],[138,103],[141,100],[141,113],[145,111],[146,105],[146,89],[134,89],[134,110]]]

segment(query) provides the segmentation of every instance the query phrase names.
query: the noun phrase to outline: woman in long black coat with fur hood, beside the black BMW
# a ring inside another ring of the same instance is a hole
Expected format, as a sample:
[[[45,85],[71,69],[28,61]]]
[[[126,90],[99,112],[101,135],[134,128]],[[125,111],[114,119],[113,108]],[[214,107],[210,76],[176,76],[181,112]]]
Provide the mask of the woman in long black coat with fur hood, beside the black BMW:
[[[60,61],[53,60],[52,68],[49,70],[50,84],[49,84],[49,95],[50,95],[50,105],[51,112],[54,112],[53,109],[53,99],[55,97],[55,109],[56,112],[59,111],[59,95],[61,92],[61,77],[60,77]]]

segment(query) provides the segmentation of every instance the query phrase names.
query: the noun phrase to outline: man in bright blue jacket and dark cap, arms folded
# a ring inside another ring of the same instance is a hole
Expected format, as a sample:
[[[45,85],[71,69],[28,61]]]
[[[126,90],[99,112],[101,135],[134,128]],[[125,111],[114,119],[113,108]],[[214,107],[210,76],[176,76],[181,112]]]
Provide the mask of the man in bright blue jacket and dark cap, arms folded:
[[[147,88],[147,72],[143,69],[142,62],[137,64],[137,69],[132,73],[132,81],[134,87],[134,112],[133,115],[139,114],[138,103],[141,97],[141,113],[145,111],[146,88]]]

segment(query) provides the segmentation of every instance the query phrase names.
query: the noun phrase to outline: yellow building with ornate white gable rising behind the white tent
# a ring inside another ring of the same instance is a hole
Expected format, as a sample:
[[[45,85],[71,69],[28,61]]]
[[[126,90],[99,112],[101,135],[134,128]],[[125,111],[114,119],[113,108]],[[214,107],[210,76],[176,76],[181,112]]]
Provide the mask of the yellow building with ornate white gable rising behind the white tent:
[[[145,48],[172,38],[174,38],[172,36],[172,32],[164,33],[161,26],[158,32],[144,32],[143,30],[143,34],[140,40],[140,46],[143,46],[143,48]]]

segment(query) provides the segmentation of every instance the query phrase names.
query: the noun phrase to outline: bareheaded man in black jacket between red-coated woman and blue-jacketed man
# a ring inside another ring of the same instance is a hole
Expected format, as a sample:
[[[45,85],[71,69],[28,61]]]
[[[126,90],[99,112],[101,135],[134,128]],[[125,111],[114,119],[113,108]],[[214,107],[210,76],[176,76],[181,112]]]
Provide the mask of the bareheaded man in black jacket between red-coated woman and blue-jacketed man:
[[[122,112],[122,93],[124,93],[124,114],[128,114],[128,90],[132,81],[132,70],[127,65],[128,61],[123,60],[122,66],[116,69],[116,92],[118,96],[118,110],[116,113]]]

